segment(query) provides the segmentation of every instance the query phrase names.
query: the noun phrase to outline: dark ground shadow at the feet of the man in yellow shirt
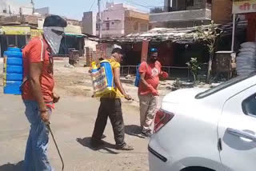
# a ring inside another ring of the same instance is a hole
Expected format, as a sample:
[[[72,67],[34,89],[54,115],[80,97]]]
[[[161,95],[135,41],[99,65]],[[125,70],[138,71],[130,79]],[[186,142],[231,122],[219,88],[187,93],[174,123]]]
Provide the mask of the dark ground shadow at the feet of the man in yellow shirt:
[[[103,141],[102,142],[104,143],[104,145],[98,147],[98,148],[94,148],[90,145],[90,138],[91,137],[84,137],[84,138],[77,138],[77,141],[79,144],[81,144],[82,146],[85,146],[89,149],[92,149],[94,151],[99,151],[100,149],[103,149],[105,150],[107,153],[111,153],[111,154],[118,154],[117,152],[115,152],[114,150],[112,149],[115,149],[115,145],[112,145],[106,141]],[[102,152],[103,153],[103,152]],[[0,170],[1,171],[1,170]]]

